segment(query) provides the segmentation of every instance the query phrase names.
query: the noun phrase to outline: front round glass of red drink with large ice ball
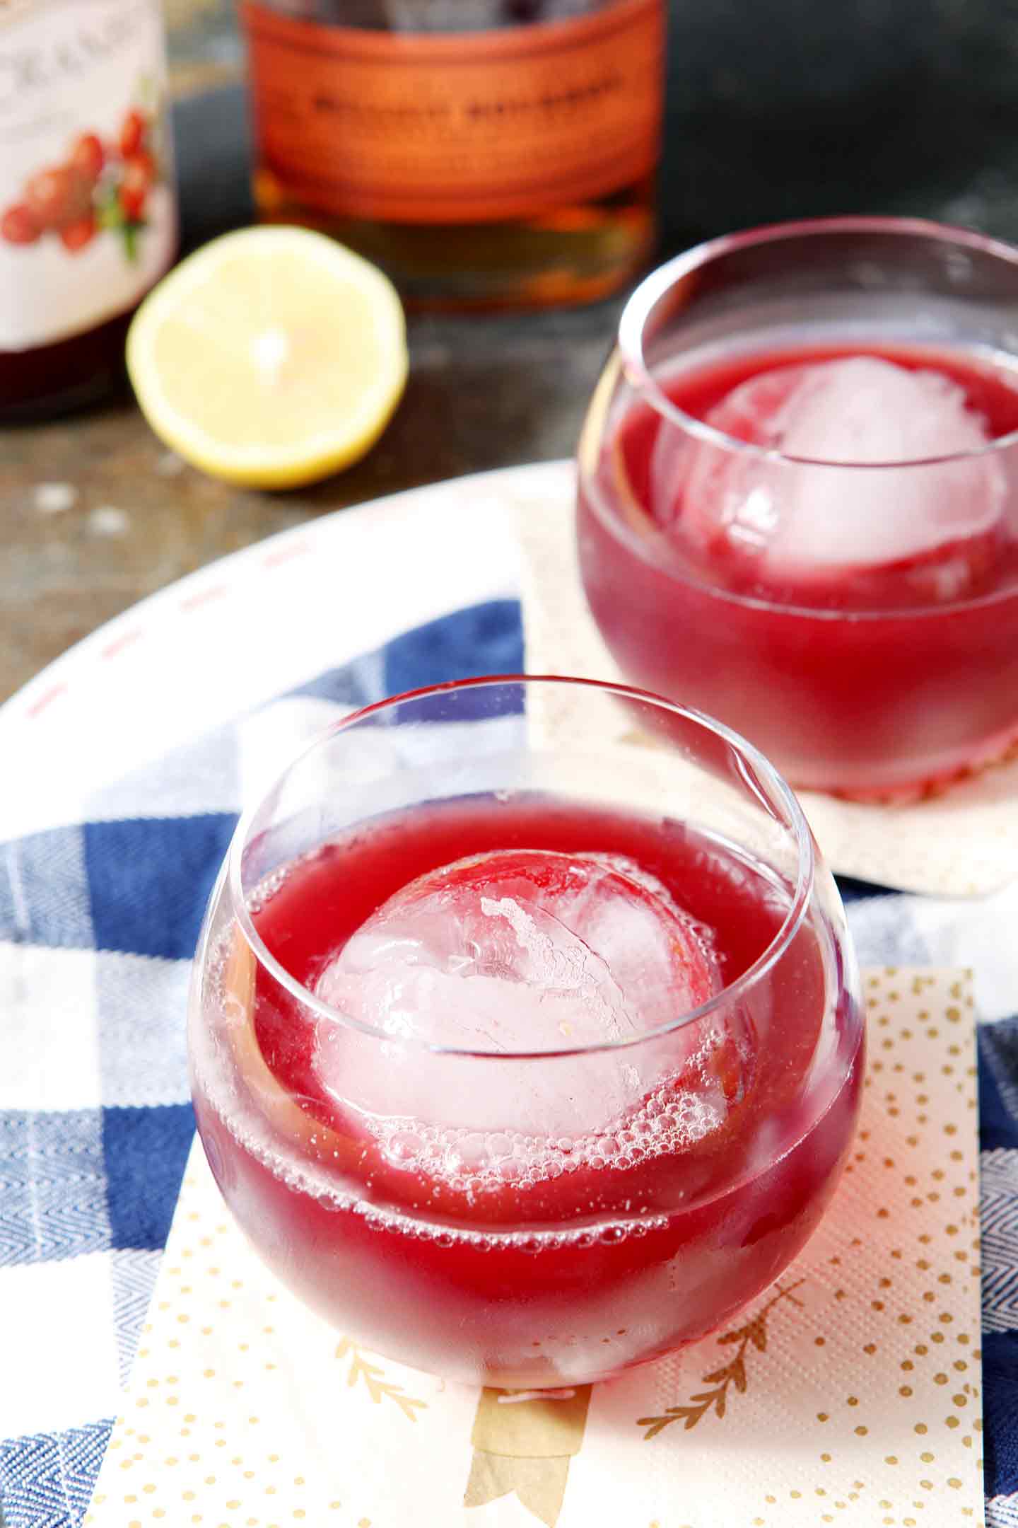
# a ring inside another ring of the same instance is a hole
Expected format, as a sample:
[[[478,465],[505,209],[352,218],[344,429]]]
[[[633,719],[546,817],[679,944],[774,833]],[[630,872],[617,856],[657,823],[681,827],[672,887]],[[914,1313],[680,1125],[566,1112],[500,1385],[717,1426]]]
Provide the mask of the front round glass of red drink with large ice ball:
[[[284,1284],[389,1357],[548,1387],[702,1337],[798,1253],[855,1131],[859,981],[755,749],[626,688],[469,680],[339,723],[241,819],[189,1057]]]

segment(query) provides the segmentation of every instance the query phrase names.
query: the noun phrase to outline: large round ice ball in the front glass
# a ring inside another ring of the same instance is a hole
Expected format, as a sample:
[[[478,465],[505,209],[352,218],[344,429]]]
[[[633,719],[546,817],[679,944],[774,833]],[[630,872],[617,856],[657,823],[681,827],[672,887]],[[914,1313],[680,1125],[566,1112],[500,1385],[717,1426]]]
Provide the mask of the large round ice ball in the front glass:
[[[316,995],[372,1033],[319,1019],[316,1076],[391,1161],[455,1186],[627,1166],[740,1097],[731,1013],[626,1044],[720,986],[710,931],[632,860],[473,856],[401,888],[328,961]]]

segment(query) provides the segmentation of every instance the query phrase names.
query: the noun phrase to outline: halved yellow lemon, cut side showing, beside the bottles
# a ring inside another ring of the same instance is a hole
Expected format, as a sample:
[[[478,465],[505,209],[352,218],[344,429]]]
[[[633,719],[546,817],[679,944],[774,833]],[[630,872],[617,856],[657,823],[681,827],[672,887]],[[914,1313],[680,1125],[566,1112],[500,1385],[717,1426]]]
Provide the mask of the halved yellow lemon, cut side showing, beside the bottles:
[[[150,292],[127,367],[151,428],[194,466],[296,487],[379,439],[406,384],[406,324],[360,255],[304,228],[246,228]]]

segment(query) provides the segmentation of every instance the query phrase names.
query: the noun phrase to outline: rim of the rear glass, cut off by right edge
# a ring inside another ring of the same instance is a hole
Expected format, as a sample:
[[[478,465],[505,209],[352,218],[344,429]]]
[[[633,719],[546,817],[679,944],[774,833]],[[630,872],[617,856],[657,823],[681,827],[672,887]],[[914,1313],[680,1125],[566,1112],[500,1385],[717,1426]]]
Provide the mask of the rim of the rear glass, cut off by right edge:
[[[812,238],[826,234],[884,234],[888,237],[910,235],[913,238],[939,240],[977,249],[980,254],[994,255],[1007,264],[1018,266],[1018,248],[986,234],[977,234],[968,228],[954,228],[951,223],[937,223],[922,217],[813,217],[797,219],[788,223],[763,223],[759,228],[742,229],[737,234],[722,234],[717,238],[693,244],[691,249],[667,260],[650,275],[644,277],[639,286],[630,293],[618,321],[618,351],[627,380],[646,399],[661,419],[682,429],[685,434],[728,451],[733,455],[748,457],[755,461],[774,465],[820,468],[841,472],[885,472],[891,468],[931,468],[946,466],[957,461],[972,461],[981,457],[992,457],[998,451],[1018,442],[1018,429],[1006,435],[997,435],[983,446],[972,446],[968,451],[952,451],[936,457],[904,457],[897,461],[832,461],[824,457],[786,455],[775,446],[759,446],[749,440],[739,440],[725,429],[717,429],[694,414],[673,403],[664,388],[656,382],[644,351],[644,339],[650,316],[658,303],[682,277],[691,275],[722,255],[740,249],[752,249],[759,244],[781,243],[789,238]],[[1018,272],[1016,272],[1018,274]]]

